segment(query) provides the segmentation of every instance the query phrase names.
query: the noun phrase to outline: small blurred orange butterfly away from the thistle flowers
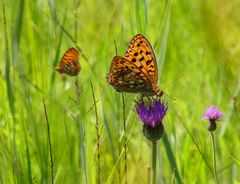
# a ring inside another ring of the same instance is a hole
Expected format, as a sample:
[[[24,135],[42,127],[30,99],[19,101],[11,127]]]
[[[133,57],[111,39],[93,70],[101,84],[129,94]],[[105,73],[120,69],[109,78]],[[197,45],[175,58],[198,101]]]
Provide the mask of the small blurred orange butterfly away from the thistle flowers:
[[[79,73],[80,68],[78,62],[78,50],[72,47],[65,52],[59,66],[56,67],[55,70],[59,73],[76,76]]]

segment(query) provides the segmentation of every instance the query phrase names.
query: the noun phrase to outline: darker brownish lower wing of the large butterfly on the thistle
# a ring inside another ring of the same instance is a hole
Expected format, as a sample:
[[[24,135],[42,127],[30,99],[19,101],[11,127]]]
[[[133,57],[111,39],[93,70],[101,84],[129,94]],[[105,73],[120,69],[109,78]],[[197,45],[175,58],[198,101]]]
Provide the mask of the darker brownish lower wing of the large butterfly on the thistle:
[[[119,92],[153,94],[151,82],[146,74],[124,57],[113,58],[107,81]]]

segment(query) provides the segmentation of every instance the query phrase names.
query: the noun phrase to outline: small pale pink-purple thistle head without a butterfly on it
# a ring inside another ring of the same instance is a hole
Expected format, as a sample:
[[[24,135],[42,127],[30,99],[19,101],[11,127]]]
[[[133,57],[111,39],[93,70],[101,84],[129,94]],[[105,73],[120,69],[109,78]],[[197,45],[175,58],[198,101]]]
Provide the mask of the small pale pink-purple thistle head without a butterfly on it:
[[[216,121],[223,118],[222,112],[214,105],[208,107],[203,115],[204,120],[209,120],[208,130],[214,131],[217,129]]]

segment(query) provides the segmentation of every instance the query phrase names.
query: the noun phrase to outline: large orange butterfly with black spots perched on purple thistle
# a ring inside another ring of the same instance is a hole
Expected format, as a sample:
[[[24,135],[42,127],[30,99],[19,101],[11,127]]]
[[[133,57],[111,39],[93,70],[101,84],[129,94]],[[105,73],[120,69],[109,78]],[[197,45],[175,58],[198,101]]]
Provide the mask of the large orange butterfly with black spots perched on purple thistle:
[[[144,96],[162,96],[157,86],[158,68],[154,51],[147,38],[134,36],[125,55],[112,60],[107,82],[118,92],[141,93]]]

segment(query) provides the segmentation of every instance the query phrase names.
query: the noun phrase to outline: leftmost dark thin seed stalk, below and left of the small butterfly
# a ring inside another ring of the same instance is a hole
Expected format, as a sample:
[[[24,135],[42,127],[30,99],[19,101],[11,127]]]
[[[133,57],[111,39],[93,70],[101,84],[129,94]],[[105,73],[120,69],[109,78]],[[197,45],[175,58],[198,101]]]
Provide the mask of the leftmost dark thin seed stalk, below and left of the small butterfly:
[[[43,98],[43,107],[44,107],[44,114],[46,118],[46,123],[47,123],[47,135],[48,135],[48,145],[49,145],[49,151],[50,151],[50,161],[51,161],[51,183],[54,183],[54,176],[53,176],[53,154],[52,154],[52,143],[51,143],[51,132],[50,132],[50,126],[49,126],[49,121],[48,121],[48,114],[47,114],[47,108],[46,104]]]

